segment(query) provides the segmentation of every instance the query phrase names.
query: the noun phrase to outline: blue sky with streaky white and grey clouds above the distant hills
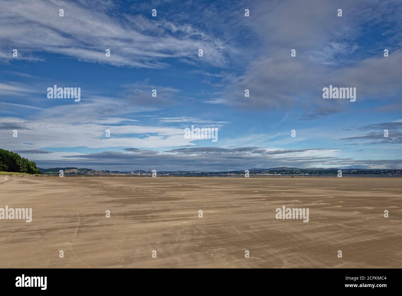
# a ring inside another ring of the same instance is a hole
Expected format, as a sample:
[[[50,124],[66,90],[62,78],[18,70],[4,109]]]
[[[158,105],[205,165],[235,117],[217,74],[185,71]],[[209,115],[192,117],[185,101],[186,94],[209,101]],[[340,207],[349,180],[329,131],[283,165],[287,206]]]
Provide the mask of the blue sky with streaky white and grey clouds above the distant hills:
[[[0,2],[0,148],[41,168],[402,169],[401,82],[399,0]]]

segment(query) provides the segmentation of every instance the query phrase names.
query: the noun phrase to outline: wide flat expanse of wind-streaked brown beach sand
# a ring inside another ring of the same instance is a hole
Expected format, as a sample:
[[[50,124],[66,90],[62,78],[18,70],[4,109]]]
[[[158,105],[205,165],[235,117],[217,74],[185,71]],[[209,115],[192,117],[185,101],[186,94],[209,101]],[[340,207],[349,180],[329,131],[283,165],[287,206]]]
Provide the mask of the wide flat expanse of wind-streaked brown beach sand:
[[[0,220],[1,268],[402,267],[402,178],[8,179],[0,208],[33,220]]]

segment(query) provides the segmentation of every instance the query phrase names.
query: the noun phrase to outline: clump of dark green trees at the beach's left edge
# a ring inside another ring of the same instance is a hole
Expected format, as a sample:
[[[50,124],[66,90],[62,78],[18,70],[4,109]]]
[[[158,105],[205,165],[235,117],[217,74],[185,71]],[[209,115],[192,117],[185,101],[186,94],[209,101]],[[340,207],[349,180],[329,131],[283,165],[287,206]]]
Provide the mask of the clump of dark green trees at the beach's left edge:
[[[36,163],[12,151],[0,149],[0,171],[14,173],[40,174]]]

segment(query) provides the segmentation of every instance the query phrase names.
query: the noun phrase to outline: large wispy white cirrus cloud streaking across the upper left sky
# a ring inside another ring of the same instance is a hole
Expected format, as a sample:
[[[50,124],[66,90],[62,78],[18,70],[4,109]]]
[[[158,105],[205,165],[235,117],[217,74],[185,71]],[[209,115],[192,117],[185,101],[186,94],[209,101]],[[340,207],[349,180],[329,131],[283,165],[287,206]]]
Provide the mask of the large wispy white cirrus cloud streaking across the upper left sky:
[[[164,68],[169,65],[166,59],[192,60],[202,48],[203,62],[226,63],[222,43],[191,25],[173,25],[163,14],[152,20],[143,16],[121,19],[113,16],[113,5],[99,4],[102,2],[2,1],[1,56],[12,61],[15,48],[19,59],[39,60],[41,53],[47,52],[115,66]],[[64,9],[63,17],[59,9]],[[105,56],[106,49],[111,50],[110,57]]]

